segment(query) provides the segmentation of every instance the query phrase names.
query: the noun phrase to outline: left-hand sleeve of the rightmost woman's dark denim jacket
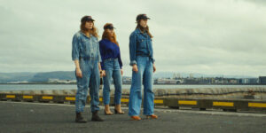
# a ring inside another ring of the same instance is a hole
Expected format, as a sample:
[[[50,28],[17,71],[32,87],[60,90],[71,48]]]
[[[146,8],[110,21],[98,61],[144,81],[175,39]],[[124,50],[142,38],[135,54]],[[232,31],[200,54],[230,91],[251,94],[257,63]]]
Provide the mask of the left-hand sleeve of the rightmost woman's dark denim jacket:
[[[134,64],[137,64],[136,60],[136,49],[137,49],[137,35],[133,32],[129,36],[129,58],[130,58],[130,66],[133,66]]]

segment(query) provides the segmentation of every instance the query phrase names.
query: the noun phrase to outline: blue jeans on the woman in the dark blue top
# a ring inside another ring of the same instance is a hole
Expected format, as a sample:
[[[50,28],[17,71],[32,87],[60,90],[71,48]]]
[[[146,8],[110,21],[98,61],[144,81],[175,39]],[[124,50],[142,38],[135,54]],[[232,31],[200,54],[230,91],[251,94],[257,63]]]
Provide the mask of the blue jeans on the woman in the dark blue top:
[[[106,76],[104,77],[104,90],[103,98],[104,104],[109,105],[110,103],[110,86],[113,77],[114,84],[114,104],[121,104],[121,69],[119,66],[118,59],[105,59],[104,65],[106,69]]]

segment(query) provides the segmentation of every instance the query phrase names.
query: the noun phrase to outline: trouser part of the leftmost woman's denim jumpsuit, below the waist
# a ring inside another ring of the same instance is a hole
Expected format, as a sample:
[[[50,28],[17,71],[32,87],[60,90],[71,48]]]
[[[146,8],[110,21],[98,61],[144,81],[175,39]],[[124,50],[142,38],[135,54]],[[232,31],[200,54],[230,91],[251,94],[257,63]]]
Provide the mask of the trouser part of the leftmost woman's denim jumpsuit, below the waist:
[[[75,95],[75,112],[82,113],[86,105],[90,86],[90,109],[91,112],[99,110],[99,70],[98,59],[80,59],[82,78],[76,76],[77,91]]]

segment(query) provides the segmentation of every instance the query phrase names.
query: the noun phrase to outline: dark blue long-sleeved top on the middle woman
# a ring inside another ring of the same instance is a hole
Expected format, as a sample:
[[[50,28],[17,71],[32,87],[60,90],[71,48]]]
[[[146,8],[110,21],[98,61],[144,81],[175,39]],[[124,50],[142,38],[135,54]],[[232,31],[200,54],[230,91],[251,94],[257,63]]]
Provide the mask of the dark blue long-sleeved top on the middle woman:
[[[99,51],[102,57],[102,70],[105,70],[104,60],[105,59],[118,59],[120,68],[123,66],[121,62],[120,48],[116,43],[109,41],[108,39],[102,39],[99,42]]]

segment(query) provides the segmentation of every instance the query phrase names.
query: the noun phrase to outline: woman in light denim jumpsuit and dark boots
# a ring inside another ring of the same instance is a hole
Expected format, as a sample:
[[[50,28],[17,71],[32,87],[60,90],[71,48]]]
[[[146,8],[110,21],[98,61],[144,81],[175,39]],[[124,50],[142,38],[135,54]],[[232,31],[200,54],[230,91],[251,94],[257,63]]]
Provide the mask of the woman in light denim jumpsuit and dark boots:
[[[77,91],[75,95],[75,122],[86,122],[82,117],[90,86],[91,121],[103,121],[98,116],[99,70],[101,70],[97,28],[91,16],[81,20],[81,30],[73,37],[72,59],[75,65]]]

